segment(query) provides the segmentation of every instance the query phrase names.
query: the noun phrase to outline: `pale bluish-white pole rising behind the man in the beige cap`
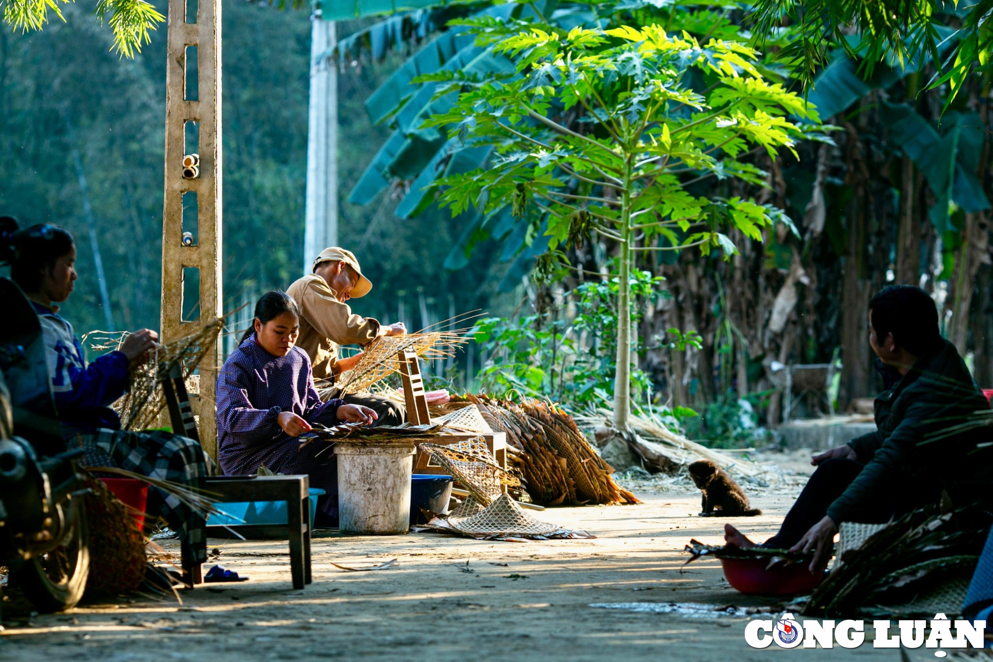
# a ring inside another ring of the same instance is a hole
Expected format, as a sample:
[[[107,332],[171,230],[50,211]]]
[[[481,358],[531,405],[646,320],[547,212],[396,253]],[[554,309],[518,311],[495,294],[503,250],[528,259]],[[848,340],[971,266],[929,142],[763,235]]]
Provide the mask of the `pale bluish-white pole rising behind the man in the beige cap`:
[[[337,43],[335,22],[324,20],[318,0],[311,15],[304,273],[321,250],[338,246],[338,68],[328,57]]]

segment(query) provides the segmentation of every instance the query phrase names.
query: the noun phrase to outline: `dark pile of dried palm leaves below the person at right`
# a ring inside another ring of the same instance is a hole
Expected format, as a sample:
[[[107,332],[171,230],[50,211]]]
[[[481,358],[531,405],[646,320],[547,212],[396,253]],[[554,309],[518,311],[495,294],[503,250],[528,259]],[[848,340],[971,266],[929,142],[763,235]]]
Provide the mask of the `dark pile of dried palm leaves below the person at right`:
[[[819,618],[955,613],[989,527],[989,515],[975,506],[944,515],[934,508],[908,513],[845,552],[803,613]]]

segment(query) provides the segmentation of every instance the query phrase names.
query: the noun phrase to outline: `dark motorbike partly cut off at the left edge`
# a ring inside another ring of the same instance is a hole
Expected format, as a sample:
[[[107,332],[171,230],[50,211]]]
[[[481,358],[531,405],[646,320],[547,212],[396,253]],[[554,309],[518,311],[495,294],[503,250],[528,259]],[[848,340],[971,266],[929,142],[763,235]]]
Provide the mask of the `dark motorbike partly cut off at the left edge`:
[[[63,438],[34,308],[8,278],[0,302],[0,567],[39,611],[61,611],[89,572],[82,450]]]

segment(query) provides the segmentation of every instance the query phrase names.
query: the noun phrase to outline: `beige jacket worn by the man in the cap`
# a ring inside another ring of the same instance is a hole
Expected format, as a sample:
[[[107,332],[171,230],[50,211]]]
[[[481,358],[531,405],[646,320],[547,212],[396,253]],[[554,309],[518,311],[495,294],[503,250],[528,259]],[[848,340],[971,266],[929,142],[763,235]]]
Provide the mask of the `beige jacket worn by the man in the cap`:
[[[379,322],[359,317],[321,276],[312,273],[290,285],[286,293],[300,306],[300,337],[297,347],[307,352],[314,379],[334,379],[340,345],[369,344],[379,335]]]

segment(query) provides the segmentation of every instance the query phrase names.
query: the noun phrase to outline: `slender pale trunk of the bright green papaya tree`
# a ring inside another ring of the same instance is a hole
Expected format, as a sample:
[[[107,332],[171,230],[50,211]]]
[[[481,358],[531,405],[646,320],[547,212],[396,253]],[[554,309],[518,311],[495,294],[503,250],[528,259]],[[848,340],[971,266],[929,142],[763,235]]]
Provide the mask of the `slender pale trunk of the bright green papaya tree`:
[[[631,420],[631,172],[632,157],[625,160],[621,208],[621,251],[618,255],[618,353],[614,372],[614,426],[627,431]]]

